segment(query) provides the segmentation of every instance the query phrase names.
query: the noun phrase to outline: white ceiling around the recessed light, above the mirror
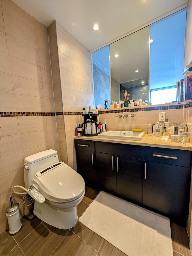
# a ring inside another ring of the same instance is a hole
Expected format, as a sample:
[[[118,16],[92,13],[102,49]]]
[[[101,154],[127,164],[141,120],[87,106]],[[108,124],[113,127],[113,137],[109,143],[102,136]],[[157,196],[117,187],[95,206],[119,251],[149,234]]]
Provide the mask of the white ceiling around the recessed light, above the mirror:
[[[188,0],[13,0],[46,27],[57,20],[90,52],[187,6]],[[98,31],[93,30],[97,23]]]

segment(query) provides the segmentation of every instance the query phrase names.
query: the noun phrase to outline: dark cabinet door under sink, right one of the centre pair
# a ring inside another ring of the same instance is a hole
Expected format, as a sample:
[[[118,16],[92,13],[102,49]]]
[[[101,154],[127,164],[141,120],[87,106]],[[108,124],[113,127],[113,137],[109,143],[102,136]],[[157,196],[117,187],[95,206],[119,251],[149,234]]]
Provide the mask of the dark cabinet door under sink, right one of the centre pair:
[[[142,160],[116,156],[117,194],[142,203]]]

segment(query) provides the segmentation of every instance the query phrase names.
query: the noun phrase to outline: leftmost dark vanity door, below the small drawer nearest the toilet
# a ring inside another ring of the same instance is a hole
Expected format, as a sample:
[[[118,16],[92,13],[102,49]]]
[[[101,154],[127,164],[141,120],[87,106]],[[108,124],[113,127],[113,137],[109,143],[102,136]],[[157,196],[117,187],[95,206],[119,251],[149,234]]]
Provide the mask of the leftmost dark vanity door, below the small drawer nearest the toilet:
[[[97,189],[95,152],[76,150],[77,172],[83,177],[85,186]]]

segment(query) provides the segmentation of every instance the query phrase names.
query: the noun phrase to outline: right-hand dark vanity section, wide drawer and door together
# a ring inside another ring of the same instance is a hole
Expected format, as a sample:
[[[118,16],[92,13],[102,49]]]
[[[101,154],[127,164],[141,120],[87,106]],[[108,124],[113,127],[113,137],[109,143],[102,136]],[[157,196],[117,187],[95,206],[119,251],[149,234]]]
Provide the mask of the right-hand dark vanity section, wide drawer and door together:
[[[190,193],[190,151],[143,148],[143,204],[186,221]]]

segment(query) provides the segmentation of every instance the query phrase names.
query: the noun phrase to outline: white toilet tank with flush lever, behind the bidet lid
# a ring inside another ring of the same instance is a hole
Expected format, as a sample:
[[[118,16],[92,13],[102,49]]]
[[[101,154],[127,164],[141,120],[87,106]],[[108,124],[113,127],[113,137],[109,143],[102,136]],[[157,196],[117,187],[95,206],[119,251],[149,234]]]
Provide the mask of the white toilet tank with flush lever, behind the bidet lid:
[[[26,157],[24,160],[24,181],[26,189],[32,185],[32,179],[35,173],[58,161],[57,151],[53,149],[45,150]]]

